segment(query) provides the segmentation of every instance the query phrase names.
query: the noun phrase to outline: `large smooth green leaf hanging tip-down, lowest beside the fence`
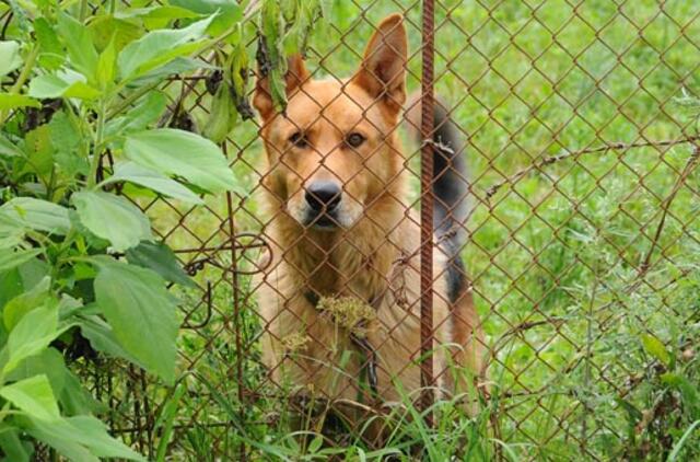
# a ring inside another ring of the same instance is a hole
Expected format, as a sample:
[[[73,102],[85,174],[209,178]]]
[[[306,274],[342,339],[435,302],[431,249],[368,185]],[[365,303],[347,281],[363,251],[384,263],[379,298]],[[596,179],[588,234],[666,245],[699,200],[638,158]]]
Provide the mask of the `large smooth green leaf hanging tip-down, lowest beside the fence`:
[[[178,322],[174,298],[155,273],[110,258],[97,266],[95,299],[121,346],[147,370],[172,383]]]

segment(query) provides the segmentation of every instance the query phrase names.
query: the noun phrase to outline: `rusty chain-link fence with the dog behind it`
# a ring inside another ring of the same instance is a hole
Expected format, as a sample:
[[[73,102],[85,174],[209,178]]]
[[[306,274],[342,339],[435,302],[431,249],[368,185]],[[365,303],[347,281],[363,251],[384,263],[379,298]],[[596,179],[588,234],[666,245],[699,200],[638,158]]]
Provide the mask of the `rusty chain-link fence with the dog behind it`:
[[[700,418],[699,15],[327,2],[285,115],[224,145],[248,195],[135,199],[198,289],[174,288],[174,388],[84,365],[114,432],[154,457],[176,415],[173,460],[257,460],[294,429],[400,446],[420,393],[457,458],[666,457]],[[171,79],[162,125],[201,128],[209,80]]]

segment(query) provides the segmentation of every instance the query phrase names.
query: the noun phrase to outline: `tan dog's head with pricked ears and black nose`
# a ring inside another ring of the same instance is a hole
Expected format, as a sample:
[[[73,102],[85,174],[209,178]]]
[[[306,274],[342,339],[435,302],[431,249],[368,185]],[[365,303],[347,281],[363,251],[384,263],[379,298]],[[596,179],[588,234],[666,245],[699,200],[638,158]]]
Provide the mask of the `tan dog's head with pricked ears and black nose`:
[[[399,14],[386,18],[349,79],[311,79],[299,56],[289,60],[288,106],[275,109],[269,82],[258,79],[254,105],[262,119],[267,188],[299,223],[347,229],[396,181],[402,158],[396,126],[406,100],[407,37]]]

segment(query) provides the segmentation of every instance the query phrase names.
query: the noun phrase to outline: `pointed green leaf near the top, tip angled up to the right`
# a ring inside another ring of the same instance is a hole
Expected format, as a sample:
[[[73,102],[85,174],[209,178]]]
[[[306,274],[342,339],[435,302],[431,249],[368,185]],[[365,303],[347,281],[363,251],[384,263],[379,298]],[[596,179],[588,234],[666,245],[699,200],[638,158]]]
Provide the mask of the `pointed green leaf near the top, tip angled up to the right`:
[[[180,30],[159,30],[131,42],[119,54],[119,76],[131,80],[197,49],[213,16]]]

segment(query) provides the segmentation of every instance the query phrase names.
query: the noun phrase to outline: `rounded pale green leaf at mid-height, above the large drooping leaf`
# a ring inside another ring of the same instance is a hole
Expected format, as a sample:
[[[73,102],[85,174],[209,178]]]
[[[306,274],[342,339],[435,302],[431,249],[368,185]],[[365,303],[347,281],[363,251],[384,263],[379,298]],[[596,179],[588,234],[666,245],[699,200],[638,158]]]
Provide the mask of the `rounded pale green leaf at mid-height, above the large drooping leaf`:
[[[71,197],[80,222],[96,236],[106,239],[117,252],[152,239],[149,219],[120,196],[83,190]]]

